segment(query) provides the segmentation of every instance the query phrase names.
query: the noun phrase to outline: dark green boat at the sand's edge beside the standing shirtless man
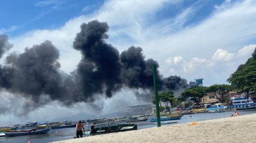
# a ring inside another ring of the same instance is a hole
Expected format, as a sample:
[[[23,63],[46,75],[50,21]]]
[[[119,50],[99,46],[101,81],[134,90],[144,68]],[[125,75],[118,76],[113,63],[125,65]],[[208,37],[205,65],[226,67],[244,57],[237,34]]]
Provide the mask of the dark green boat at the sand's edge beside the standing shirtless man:
[[[95,131],[86,131],[83,134],[99,134],[99,133],[115,133],[122,131],[137,130],[137,124],[117,124],[117,125],[104,125],[103,127],[97,127]]]

